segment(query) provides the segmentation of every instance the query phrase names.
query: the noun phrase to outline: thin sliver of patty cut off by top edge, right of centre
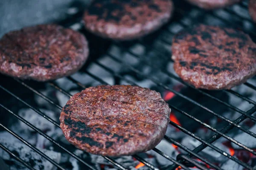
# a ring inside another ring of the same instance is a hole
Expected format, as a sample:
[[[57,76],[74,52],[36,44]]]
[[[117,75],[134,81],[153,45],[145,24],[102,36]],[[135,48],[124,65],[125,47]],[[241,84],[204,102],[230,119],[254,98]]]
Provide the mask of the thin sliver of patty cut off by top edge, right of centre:
[[[216,9],[216,8],[224,8],[226,6],[239,3],[241,0],[186,0],[186,1],[200,8]]]

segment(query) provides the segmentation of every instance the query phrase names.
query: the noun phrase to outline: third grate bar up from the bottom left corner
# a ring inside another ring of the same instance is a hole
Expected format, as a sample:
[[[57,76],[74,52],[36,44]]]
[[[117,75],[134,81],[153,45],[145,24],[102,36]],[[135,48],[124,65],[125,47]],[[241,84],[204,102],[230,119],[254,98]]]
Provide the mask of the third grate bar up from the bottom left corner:
[[[26,125],[28,125],[29,127],[31,127],[33,130],[35,130],[36,132],[38,132],[40,135],[44,136],[44,138],[46,138],[47,140],[49,140],[50,142],[56,144],[58,147],[60,147],[62,150],[64,150],[65,152],[67,152],[68,154],[70,154],[71,156],[73,156],[75,159],[77,159],[78,161],[80,161],[81,163],[83,163],[85,166],[89,167],[92,170],[96,170],[95,168],[93,168],[92,166],[90,166],[89,164],[87,164],[85,161],[83,161],[82,159],[80,159],[77,155],[75,155],[74,153],[70,152],[69,150],[67,150],[66,148],[62,147],[61,144],[59,144],[58,142],[56,142],[54,139],[52,139],[50,136],[48,136],[47,134],[43,133],[42,130],[40,130],[39,128],[35,127],[34,125],[32,125],[31,123],[29,123],[28,121],[26,121],[25,119],[23,119],[21,116],[13,113],[11,110],[9,110],[8,108],[6,108],[4,105],[0,104],[0,106],[2,108],[4,108],[6,111],[8,111],[9,113],[11,113],[13,116],[15,116],[17,119],[19,119],[21,122],[25,123]]]

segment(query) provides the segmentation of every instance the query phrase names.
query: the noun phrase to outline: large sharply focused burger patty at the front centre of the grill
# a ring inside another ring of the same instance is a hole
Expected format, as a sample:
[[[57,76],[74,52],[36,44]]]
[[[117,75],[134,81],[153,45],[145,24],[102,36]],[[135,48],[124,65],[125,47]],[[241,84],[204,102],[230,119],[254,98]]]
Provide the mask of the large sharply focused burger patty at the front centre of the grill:
[[[170,111],[148,88],[100,85],[70,98],[61,111],[61,129],[71,144],[89,153],[133,155],[161,141]]]

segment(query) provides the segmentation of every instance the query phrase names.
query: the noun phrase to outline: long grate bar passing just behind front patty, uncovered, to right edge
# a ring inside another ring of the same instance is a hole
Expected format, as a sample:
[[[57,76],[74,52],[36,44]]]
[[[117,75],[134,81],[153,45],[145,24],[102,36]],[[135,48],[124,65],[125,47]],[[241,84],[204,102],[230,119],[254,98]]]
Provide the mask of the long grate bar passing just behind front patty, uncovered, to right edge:
[[[175,91],[175,90],[173,90],[173,89],[167,87],[167,86],[164,85],[163,83],[158,82],[158,81],[155,80],[154,78],[151,78],[151,77],[149,77],[149,76],[147,76],[147,75],[141,73],[141,72],[138,71],[136,68],[132,67],[131,65],[125,64],[124,62],[122,62],[122,60],[117,59],[116,57],[113,57],[111,54],[108,54],[108,55],[109,55],[113,60],[115,60],[115,61],[121,63],[122,65],[124,65],[125,67],[129,68],[131,71],[134,71],[134,72],[136,72],[137,74],[140,74],[141,76],[143,76],[143,77],[145,77],[145,78],[147,78],[147,79],[150,79],[150,80],[153,81],[156,85],[159,85],[159,86],[163,87],[164,89],[166,89],[166,90],[168,90],[168,91],[171,91],[172,93],[176,94],[177,96],[180,96],[180,97],[182,97],[183,99],[188,100],[189,102],[191,102],[191,103],[193,103],[193,104],[199,106],[200,108],[203,108],[204,110],[206,110],[206,111],[208,111],[209,113],[213,114],[214,116],[220,118],[221,120],[224,120],[225,122],[228,122],[228,123],[230,123],[230,124],[236,126],[236,127],[239,128],[240,130],[242,130],[242,131],[244,131],[245,133],[250,134],[251,136],[253,136],[253,137],[256,138],[256,134],[253,133],[253,132],[251,132],[251,131],[248,130],[247,128],[241,127],[240,125],[237,125],[236,123],[232,122],[230,119],[227,119],[227,118],[225,118],[224,116],[221,116],[221,115],[219,115],[219,114],[217,114],[217,113],[211,111],[211,110],[208,109],[207,107],[201,105],[201,104],[198,103],[198,102],[195,102],[194,100],[190,99],[189,97],[184,96],[183,94],[180,94],[179,92],[177,92],[177,91]]]

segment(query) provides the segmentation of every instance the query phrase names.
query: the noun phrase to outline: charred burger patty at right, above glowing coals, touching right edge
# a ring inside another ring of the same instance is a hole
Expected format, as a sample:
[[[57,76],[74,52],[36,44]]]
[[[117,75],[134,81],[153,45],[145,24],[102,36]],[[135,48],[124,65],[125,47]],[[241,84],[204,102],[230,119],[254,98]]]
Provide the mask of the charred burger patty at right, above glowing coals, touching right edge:
[[[200,25],[173,38],[175,72],[196,88],[230,89],[256,74],[256,44],[232,28]]]

